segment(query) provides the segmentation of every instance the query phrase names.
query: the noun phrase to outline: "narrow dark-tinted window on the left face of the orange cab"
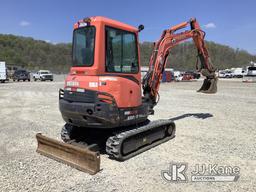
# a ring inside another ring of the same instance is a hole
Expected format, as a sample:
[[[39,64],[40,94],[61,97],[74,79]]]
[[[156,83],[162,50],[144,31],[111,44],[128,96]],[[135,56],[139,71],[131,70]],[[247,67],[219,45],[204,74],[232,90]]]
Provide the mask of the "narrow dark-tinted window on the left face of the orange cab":
[[[95,27],[83,27],[74,30],[73,66],[89,67],[94,62]]]

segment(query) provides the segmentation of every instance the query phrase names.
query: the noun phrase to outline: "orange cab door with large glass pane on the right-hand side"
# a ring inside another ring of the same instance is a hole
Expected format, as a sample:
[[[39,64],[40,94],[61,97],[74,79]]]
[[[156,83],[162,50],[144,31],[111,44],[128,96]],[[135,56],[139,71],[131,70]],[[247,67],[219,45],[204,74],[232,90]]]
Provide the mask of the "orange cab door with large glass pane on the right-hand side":
[[[119,107],[141,105],[141,75],[136,34],[105,26],[105,79],[100,91],[112,94]],[[99,78],[104,79],[104,78]]]

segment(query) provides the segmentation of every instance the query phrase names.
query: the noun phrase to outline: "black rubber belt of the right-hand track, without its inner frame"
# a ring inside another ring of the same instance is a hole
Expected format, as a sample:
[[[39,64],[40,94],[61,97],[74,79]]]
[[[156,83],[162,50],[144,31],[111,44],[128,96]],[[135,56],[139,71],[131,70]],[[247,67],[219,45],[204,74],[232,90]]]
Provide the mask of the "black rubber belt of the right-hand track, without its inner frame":
[[[161,126],[166,126],[166,125],[173,125],[173,131],[170,136],[166,136],[161,140],[157,140],[149,145],[145,145],[142,148],[139,148],[138,150],[131,152],[125,156],[122,155],[123,142],[127,138],[135,136],[142,132],[145,132],[145,131],[148,131],[148,130],[151,130],[154,128],[158,128]],[[124,161],[124,160],[127,160],[135,155],[138,155],[139,153],[142,153],[150,148],[153,148],[161,143],[164,143],[174,137],[175,137],[175,124],[172,120],[152,121],[147,125],[144,125],[144,126],[141,126],[141,127],[135,128],[135,129],[131,129],[128,131],[120,132],[120,133],[115,134],[114,136],[109,137],[106,142],[106,152],[108,153],[108,155],[111,158],[119,160],[119,161]]]

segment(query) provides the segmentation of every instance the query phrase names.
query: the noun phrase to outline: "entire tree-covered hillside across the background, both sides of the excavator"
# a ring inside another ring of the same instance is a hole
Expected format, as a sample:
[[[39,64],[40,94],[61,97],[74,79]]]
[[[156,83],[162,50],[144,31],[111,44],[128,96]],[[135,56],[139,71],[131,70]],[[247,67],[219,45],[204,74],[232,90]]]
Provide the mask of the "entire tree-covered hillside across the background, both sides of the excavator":
[[[256,56],[244,50],[233,49],[214,42],[207,42],[213,64],[219,69],[241,67]],[[147,65],[153,43],[140,44],[141,63]],[[169,56],[167,67],[190,70],[195,68],[196,49],[192,42],[175,47]],[[0,60],[8,65],[17,65],[29,70],[50,69],[67,72],[71,65],[71,44],[51,44],[41,40],[0,34]]]

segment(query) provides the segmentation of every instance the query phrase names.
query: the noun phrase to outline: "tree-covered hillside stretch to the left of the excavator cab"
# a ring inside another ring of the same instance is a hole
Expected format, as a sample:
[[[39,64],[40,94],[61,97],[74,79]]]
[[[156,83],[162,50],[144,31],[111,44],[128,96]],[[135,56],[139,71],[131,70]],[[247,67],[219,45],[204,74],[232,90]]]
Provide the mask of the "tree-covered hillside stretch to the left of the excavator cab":
[[[53,45],[27,37],[0,35],[0,60],[29,70],[67,72],[71,65],[71,44]]]

